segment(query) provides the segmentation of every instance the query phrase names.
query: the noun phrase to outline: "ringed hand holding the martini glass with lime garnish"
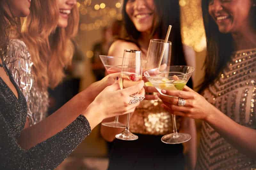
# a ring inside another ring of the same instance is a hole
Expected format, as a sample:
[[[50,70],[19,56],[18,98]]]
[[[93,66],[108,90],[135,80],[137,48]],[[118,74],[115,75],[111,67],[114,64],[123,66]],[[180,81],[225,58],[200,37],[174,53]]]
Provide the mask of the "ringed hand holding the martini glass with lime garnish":
[[[185,105],[178,106],[178,98],[168,97],[159,94],[159,98],[163,100],[163,107],[174,115],[186,116],[193,119],[207,120],[209,116],[214,114],[216,108],[210,104],[203,96],[185,86],[183,91],[180,90],[162,90],[162,93],[170,96],[185,99]]]

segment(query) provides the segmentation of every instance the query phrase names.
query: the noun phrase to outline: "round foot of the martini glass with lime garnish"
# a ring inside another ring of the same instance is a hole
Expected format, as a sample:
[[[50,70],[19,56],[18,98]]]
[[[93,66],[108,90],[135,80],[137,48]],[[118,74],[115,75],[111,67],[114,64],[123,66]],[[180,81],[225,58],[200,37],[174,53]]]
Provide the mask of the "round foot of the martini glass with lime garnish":
[[[173,137],[173,133],[164,135],[161,141],[165,144],[180,144],[187,142],[191,139],[191,136],[187,133],[178,133],[176,137]]]

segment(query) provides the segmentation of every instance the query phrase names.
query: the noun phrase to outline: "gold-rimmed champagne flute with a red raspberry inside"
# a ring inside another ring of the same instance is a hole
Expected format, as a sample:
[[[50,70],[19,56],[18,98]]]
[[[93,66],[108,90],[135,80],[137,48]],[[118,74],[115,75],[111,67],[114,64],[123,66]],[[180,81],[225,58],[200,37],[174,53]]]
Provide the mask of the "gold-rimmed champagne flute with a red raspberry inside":
[[[122,71],[120,76],[120,89],[136,85],[142,79],[142,59],[141,51],[124,50],[124,57],[122,62]],[[137,135],[130,132],[130,114],[127,114],[125,130],[116,135],[117,139],[121,140],[136,140]]]

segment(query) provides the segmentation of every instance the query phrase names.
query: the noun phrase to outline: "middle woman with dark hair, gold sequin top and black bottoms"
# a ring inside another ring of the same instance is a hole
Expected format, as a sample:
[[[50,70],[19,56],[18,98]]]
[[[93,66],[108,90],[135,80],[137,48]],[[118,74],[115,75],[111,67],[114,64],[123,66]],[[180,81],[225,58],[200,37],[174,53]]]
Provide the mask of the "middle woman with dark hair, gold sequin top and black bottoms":
[[[171,8],[171,10],[170,10]],[[109,55],[122,56],[124,49],[138,49],[146,56],[149,41],[152,38],[164,39],[168,26],[172,25],[170,40],[172,41],[172,65],[195,65],[194,51],[181,42],[180,34],[180,8],[178,1],[157,0],[125,0],[123,16],[127,36],[125,39],[115,41],[109,49]],[[192,81],[189,82],[192,87]],[[148,92],[153,92],[152,87],[145,87]],[[154,91],[156,92],[156,91]],[[147,95],[146,95],[147,96]],[[149,101],[143,101],[136,108],[130,120],[130,130],[139,136],[136,141],[114,140],[115,135],[123,129],[101,126],[102,136],[109,142],[113,142],[110,151],[109,169],[182,169],[184,168],[184,156],[182,144],[166,145],[161,142],[161,137],[172,133],[172,120],[170,113],[160,107],[161,101],[157,96],[148,95]],[[165,120],[156,122],[154,117],[163,115]],[[154,120],[152,120],[152,117]],[[110,122],[112,119],[104,120]],[[121,116],[119,121],[125,123],[126,117]],[[188,118],[179,121],[182,129],[188,129],[187,133],[195,136],[195,123]],[[150,125],[150,127],[148,126]],[[163,125],[161,127],[161,125]],[[180,129],[181,130],[181,129]],[[186,143],[190,145],[191,154],[188,166],[195,161],[196,150],[195,137]],[[129,148],[127,150],[126,148]],[[157,157],[156,157],[157,155]]]

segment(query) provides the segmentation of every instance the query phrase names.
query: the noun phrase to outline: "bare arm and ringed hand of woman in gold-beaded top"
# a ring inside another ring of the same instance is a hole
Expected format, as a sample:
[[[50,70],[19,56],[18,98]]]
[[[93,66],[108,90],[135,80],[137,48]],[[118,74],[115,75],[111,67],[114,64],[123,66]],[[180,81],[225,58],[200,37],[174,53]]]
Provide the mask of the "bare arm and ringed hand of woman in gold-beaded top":
[[[239,152],[255,158],[256,129],[236,123],[192,89],[185,86],[184,90],[162,91],[186,100],[185,106],[179,107],[177,106],[178,99],[161,95],[160,98],[164,101],[164,107],[172,110],[175,115],[206,121]]]

